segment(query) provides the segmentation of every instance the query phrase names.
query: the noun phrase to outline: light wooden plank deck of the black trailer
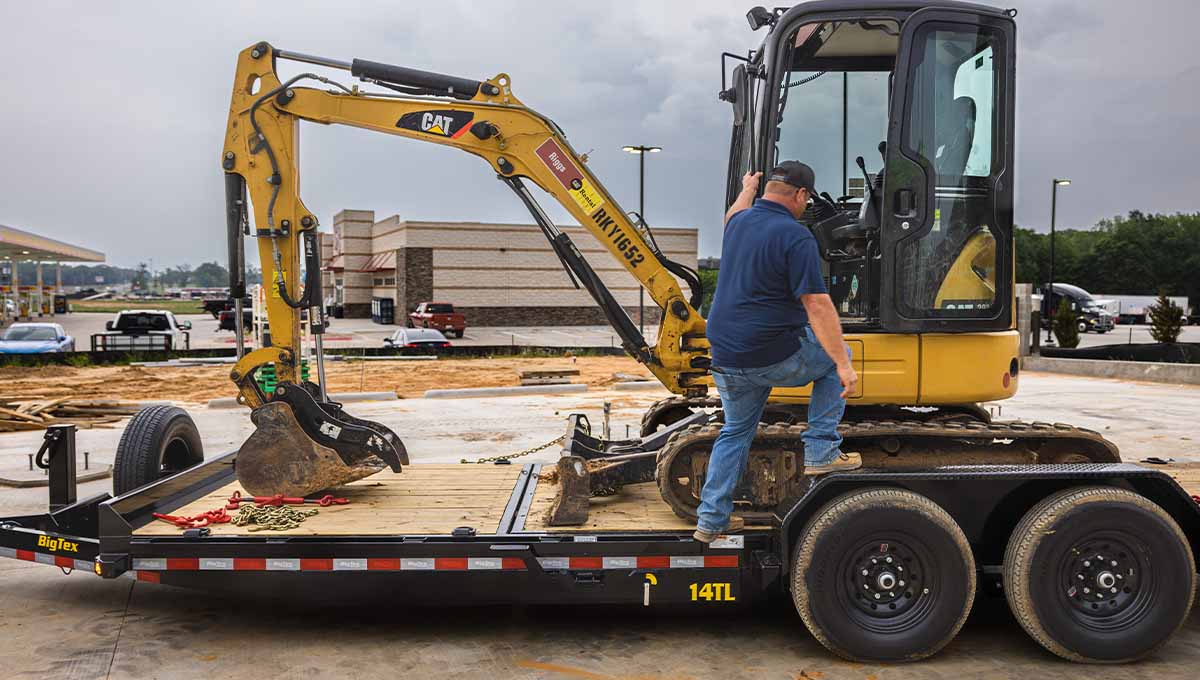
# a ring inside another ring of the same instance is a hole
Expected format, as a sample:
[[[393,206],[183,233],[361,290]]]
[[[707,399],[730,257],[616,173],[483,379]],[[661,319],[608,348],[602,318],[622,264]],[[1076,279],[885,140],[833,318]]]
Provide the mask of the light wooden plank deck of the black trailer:
[[[1188,493],[1200,495],[1200,463],[1152,468],[1163,469]],[[349,498],[350,504],[322,507],[298,529],[250,531],[250,526],[215,524],[211,530],[216,536],[394,536],[444,535],[458,526],[473,526],[478,534],[497,534],[502,531],[505,510],[521,505],[522,470],[522,465],[409,465],[400,475],[385,470],[337,489],[335,495]],[[653,482],[629,485],[616,495],[592,499],[588,522],[583,525],[548,526],[546,511],[558,491],[557,485],[544,480],[529,483],[536,486],[527,506],[515,513],[514,531],[686,531],[695,528],[692,522],[676,517]],[[172,514],[193,516],[223,507],[235,491],[240,491],[240,486],[230,482]],[[134,535],[174,536],[180,531],[167,522],[152,522],[134,530]]]

